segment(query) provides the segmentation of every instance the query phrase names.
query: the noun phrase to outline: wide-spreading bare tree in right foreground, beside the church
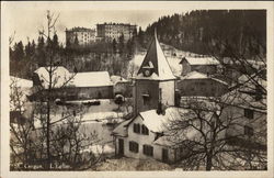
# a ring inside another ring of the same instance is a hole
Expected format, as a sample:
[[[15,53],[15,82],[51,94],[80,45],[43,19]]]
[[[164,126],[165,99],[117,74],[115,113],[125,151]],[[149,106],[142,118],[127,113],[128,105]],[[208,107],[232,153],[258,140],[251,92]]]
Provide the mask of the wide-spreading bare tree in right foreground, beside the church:
[[[221,99],[190,99],[181,118],[169,122],[167,135],[180,147],[184,169],[254,169],[252,165],[265,168],[265,147],[255,143],[265,135],[252,133],[250,142],[244,133],[236,132],[237,126],[243,126],[243,115],[230,112],[231,97],[236,99],[233,93]],[[235,133],[228,134],[228,130]],[[240,145],[231,144],[238,140]]]

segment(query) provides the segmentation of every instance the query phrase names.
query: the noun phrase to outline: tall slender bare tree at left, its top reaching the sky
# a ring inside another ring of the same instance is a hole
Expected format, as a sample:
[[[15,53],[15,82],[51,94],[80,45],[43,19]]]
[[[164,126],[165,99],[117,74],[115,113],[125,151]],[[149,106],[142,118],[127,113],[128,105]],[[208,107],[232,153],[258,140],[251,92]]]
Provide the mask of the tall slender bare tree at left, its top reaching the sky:
[[[92,156],[85,159],[82,151],[96,142],[96,134],[84,136],[81,133],[82,110],[76,105],[66,103],[66,91],[77,75],[77,69],[67,76],[59,76],[60,69],[58,48],[54,45],[52,36],[56,33],[55,24],[58,15],[47,11],[47,29],[39,34],[47,38],[46,46],[46,74],[36,76],[37,84],[34,87],[35,101],[34,120],[36,125],[34,145],[36,148],[36,164],[43,165],[43,169],[53,169],[64,165],[68,169],[77,169],[84,164],[93,165],[100,159]],[[61,98],[61,100],[59,100]],[[92,152],[90,152],[92,155]]]

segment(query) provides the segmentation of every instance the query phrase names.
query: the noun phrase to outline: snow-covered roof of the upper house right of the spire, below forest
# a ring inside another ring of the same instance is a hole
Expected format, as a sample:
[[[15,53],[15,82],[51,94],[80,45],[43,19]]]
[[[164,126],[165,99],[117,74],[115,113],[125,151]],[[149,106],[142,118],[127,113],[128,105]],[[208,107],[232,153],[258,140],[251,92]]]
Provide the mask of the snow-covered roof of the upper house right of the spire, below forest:
[[[190,65],[219,65],[219,62],[214,57],[184,57],[183,60],[190,63]]]

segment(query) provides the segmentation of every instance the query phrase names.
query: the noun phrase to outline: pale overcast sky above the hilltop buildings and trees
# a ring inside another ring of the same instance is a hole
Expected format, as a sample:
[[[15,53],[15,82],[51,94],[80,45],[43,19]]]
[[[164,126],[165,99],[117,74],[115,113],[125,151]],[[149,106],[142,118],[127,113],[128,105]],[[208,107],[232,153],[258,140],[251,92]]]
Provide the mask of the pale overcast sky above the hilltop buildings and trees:
[[[62,5],[59,5],[62,7]],[[94,5],[93,5],[94,7]],[[186,12],[186,9],[141,9],[130,5],[130,8],[50,8],[37,7],[37,4],[30,5],[30,8],[19,8],[18,5],[9,5],[7,20],[9,21],[9,36],[14,33],[14,41],[22,41],[24,44],[27,40],[37,40],[38,30],[43,26],[46,29],[46,10],[50,10],[57,16],[56,30],[59,42],[65,43],[65,30],[73,26],[83,26],[95,29],[98,23],[115,22],[115,23],[130,23],[141,26],[145,30],[148,24],[157,21],[160,16],[172,15],[174,13]],[[124,5],[126,7],[126,5]]]

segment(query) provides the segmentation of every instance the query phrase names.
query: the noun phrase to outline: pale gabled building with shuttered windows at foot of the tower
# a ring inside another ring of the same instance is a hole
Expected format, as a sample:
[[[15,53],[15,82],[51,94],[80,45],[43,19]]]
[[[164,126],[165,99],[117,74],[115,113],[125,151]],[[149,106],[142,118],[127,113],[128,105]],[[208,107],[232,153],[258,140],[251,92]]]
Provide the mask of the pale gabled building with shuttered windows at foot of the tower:
[[[179,160],[183,152],[172,142],[167,124],[170,120],[181,118],[180,113],[186,110],[174,107],[161,113],[158,110],[148,110],[122,122],[113,131],[115,155],[139,159],[152,158],[164,163]],[[194,131],[186,132],[185,140],[195,134]]]

